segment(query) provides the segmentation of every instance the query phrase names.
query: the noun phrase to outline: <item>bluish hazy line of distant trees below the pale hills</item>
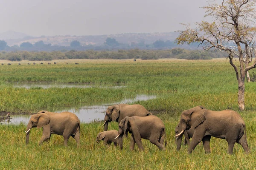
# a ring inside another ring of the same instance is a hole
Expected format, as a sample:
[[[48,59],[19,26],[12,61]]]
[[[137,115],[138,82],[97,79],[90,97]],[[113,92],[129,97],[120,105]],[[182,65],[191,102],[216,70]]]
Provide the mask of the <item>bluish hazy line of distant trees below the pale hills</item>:
[[[145,44],[143,40],[129,42],[129,44],[119,43],[114,38],[108,37],[103,44],[95,44],[95,45],[81,45],[81,43],[77,40],[70,42],[70,46],[58,46],[52,44],[45,44],[43,41],[35,42],[34,44],[30,42],[23,42],[18,45],[8,46],[7,43],[3,40],[0,40],[0,51],[86,51],[86,50],[94,50],[94,51],[117,51],[117,50],[128,50],[128,49],[144,49],[144,50],[157,50],[157,49],[172,49],[172,48],[187,48],[187,49],[196,49],[198,48],[198,44],[194,43],[191,45],[177,45],[174,41],[163,41],[157,40],[152,44]]]

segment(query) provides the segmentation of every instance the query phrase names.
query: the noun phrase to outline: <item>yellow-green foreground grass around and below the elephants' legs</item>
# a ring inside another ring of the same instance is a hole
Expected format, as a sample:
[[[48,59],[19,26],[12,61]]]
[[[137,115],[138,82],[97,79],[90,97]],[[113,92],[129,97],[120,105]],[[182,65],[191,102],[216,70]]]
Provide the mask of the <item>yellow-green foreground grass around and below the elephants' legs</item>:
[[[254,117],[252,112],[245,113]],[[227,154],[227,142],[224,139],[211,139],[210,154],[205,154],[202,145],[198,145],[189,155],[187,146],[176,151],[174,128],[178,118],[159,115],[166,126],[167,148],[159,151],[148,140],[143,140],[144,151],[129,150],[129,139],[124,139],[124,148],[120,151],[103,142],[96,144],[96,135],[102,131],[100,123],[81,125],[81,147],[76,148],[75,140],[70,138],[68,147],[63,146],[63,137],[52,135],[49,143],[38,146],[42,130],[33,128],[28,146],[25,145],[26,125],[0,126],[0,164],[6,169],[251,169],[255,166],[255,118],[244,116],[247,123],[247,137],[251,154],[245,155],[242,147],[235,144],[234,154]],[[168,118],[168,119],[167,119]],[[111,123],[110,129],[117,129],[117,123]]]

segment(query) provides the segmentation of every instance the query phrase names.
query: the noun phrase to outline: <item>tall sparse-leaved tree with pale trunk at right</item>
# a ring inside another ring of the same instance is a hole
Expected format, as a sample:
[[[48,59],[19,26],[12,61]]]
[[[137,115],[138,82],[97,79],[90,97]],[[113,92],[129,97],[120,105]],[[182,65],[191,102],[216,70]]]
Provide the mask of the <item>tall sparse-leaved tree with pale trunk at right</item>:
[[[192,29],[189,24],[185,31],[179,31],[177,44],[199,42],[204,50],[214,48],[228,52],[230,65],[236,72],[238,81],[238,104],[244,110],[244,79],[247,72],[256,68],[256,10],[255,0],[223,0],[221,4],[215,1],[204,6],[204,17],[213,18],[212,22],[195,23]],[[253,59],[254,56],[254,59]],[[239,63],[233,62],[238,57]]]

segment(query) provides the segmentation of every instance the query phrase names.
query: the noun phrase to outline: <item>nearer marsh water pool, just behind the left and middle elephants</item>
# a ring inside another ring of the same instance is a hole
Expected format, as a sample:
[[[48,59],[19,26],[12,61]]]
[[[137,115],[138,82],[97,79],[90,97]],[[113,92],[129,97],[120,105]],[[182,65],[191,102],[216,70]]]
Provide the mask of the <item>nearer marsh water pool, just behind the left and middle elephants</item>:
[[[140,94],[137,95],[134,98],[130,98],[130,99],[123,99],[122,101],[118,102],[118,103],[131,103],[131,102],[136,102],[136,101],[141,101],[141,100],[148,100],[148,99],[154,99],[156,98],[155,95],[144,95],[144,94]],[[55,110],[54,112],[60,113],[63,111],[69,111],[72,113],[75,113],[78,118],[80,119],[81,122],[84,123],[89,123],[89,122],[93,122],[93,121],[100,121],[100,120],[104,120],[104,116],[105,116],[105,111],[108,108],[108,106],[113,105],[113,104],[117,104],[117,102],[112,102],[112,103],[90,103],[90,104],[84,104],[84,106],[81,107],[74,107],[74,108],[70,108],[70,107],[64,107],[61,108],[59,110]],[[8,123],[8,124],[19,124],[20,122],[23,122],[25,124],[27,124],[29,122],[30,119],[30,114],[17,114],[17,115],[11,115],[10,121],[8,122],[2,122],[2,123]]]

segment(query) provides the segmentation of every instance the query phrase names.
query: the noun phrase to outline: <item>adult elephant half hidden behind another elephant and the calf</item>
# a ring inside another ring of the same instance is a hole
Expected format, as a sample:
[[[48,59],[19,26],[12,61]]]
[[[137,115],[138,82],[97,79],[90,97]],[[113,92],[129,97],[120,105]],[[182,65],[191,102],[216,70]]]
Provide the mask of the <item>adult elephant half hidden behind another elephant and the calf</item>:
[[[119,104],[109,106],[106,110],[106,115],[104,118],[104,131],[108,130],[108,122],[116,121],[118,124],[124,119],[126,116],[148,116],[152,115],[147,109],[145,109],[142,105],[134,104]],[[102,125],[102,126],[103,126]]]

